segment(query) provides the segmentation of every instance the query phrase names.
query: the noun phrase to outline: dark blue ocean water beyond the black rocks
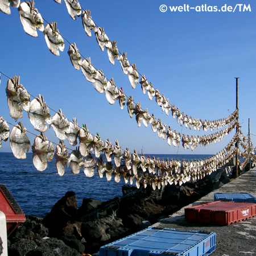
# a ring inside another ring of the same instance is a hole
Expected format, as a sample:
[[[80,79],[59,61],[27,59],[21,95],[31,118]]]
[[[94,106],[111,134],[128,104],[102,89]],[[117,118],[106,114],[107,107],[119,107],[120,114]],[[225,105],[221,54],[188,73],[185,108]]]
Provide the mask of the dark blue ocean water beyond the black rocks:
[[[150,155],[153,156],[153,155]],[[160,159],[204,159],[209,155],[154,155]],[[0,184],[6,185],[17,203],[26,214],[43,217],[52,206],[64,196],[67,191],[75,191],[78,204],[82,199],[93,198],[109,200],[122,196],[123,180],[120,183],[100,179],[96,175],[88,178],[81,171],[73,175],[67,168],[65,175],[60,177],[56,173],[55,161],[48,163],[44,172],[35,169],[32,163],[32,154],[27,159],[16,159],[12,153],[0,153]]]

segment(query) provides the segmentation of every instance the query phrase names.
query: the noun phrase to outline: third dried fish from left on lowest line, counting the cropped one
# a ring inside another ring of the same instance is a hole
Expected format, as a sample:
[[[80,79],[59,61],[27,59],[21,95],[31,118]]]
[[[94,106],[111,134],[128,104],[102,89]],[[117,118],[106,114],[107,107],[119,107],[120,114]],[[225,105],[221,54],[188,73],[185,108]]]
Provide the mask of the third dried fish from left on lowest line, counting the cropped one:
[[[41,172],[46,170],[48,166],[47,162],[51,162],[53,159],[54,147],[52,142],[48,141],[43,133],[35,137],[32,152],[36,170]]]

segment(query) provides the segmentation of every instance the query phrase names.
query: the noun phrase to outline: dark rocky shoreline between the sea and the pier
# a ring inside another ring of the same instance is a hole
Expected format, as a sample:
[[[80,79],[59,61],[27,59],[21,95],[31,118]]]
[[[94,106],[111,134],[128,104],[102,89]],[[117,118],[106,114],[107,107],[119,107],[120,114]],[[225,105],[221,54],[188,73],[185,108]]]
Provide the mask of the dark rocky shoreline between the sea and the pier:
[[[230,167],[232,170],[232,167]],[[162,190],[123,186],[123,196],[109,201],[82,200],[69,191],[44,218],[27,216],[9,237],[9,256],[78,256],[97,253],[100,246],[137,232],[160,218],[229,183],[224,168],[196,183]]]

